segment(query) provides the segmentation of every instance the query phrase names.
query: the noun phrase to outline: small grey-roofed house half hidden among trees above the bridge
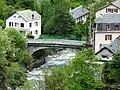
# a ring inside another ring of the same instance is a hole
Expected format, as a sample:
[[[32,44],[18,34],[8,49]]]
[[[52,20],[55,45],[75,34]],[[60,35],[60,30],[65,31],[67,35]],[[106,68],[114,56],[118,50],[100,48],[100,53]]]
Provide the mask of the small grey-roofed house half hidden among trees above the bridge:
[[[76,23],[85,23],[89,14],[89,11],[82,6],[79,6],[69,11],[70,15],[75,19]]]

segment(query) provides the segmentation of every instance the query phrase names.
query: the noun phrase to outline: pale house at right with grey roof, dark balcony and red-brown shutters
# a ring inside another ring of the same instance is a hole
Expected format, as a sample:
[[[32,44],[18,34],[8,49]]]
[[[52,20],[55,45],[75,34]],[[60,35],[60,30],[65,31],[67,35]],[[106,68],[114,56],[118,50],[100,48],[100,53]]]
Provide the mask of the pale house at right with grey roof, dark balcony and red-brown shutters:
[[[95,53],[120,35],[120,14],[105,14],[96,19]]]

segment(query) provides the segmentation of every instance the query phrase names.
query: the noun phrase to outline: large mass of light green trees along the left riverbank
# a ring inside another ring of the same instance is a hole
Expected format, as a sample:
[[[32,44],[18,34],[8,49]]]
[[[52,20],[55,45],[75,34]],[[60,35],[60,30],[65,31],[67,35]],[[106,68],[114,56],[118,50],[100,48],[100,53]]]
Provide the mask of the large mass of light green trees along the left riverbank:
[[[26,40],[18,30],[0,30],[0,35],[0,90],[6,90],[6,85],[14,90],[24,84],[26,68],[32,58],[26,50]]]

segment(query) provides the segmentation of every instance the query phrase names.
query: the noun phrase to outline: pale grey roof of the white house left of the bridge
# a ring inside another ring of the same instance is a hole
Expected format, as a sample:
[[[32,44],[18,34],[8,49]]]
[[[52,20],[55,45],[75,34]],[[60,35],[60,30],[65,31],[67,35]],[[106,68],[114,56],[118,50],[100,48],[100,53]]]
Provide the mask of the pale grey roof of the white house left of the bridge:
[[[36,11],[23,10],[17,11],[16,13],[26,21],[39,20],[41,18],[41,15],[39,15]],[[32,19],[32,15],[34,15],[34,19]]]

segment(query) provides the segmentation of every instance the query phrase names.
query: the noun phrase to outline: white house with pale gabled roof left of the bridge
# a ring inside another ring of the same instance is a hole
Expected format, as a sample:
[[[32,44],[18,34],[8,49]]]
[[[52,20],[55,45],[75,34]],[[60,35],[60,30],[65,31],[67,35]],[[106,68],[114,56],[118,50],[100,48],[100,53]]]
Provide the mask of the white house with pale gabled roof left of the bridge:
[[[6,20],[6,28],[16,28],[25,35],[31,33],[34,38],[41,35],[41,15],[36,11],[17,11]]]

